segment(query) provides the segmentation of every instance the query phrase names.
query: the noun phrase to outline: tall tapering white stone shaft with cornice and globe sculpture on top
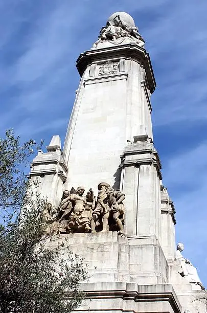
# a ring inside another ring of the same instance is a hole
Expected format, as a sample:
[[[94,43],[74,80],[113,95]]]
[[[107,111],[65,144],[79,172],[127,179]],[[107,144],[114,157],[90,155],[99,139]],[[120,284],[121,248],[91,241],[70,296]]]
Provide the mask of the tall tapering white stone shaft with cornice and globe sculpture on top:
[[[155,79],[144,39],[130,15],[112,14],[90,51],[77,60],[81,75],[64,143],[69,188],[120,187],[120,154],[135,136],[153,138],[150,95]]]

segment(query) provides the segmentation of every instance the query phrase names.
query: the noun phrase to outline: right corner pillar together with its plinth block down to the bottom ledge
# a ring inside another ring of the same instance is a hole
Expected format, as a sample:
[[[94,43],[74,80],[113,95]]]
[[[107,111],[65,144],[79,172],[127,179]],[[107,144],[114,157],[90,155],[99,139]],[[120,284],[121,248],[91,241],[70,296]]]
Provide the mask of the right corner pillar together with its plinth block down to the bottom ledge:
[[[168,282],[161,245],[160,168],[152,139],[134,136],[121,155],[120,188],[127,194],[125,233],[130,245],[130,276],[139,284]]]

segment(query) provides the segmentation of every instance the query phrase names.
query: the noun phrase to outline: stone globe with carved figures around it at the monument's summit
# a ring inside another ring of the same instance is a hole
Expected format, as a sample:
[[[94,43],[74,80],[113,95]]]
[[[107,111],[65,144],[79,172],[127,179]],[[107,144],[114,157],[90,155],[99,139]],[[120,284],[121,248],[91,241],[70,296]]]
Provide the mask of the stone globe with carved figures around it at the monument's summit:
[[[128,13],[116,12],[108,18],[106,26],[101,28],[99,39],[91,49],[125,43],[136,43],[144,47],[145,41],[135,26],[133,18]]]

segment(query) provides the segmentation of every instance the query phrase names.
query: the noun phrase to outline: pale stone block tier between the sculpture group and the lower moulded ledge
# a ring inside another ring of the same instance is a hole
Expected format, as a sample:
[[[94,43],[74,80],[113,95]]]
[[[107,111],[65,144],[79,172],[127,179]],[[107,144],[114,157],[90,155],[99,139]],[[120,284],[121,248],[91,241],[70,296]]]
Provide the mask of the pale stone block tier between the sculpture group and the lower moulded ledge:
[[[167,261],[152,235],[120,237],[117,232],[57,235],[87,263],[90,282],[167,283]]]

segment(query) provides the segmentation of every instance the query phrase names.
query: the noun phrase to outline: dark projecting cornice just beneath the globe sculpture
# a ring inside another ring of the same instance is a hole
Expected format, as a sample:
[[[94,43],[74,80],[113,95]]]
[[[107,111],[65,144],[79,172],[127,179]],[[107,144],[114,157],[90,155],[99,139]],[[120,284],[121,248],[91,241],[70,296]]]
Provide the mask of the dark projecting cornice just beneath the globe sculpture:
[[[89,50],[81,53],[77,59],[77,69],[80,76],[83,75],[87,66],[93,62],[110,58],[133,58],[139,61],[145,68],[146,77],[149,83],[151,94],[154,92],[156,82],[153,74],[152,64],[149,53],[144,48],[137,46],[137,44],[123,44],[117,47],[109,47],[97,50]]]

